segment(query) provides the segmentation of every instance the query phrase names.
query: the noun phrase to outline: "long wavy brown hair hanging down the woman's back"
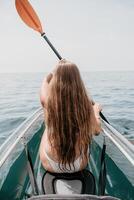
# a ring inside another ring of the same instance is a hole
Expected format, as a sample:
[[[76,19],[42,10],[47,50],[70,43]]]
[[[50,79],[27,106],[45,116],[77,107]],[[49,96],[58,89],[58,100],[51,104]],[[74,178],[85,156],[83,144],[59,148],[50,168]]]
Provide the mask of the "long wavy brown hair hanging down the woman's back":
[[[92,101],[77,66],[61,60],[50,85],[46,123],[49,140],[53,141],[59,163],[65,168],[76,159],[76,142],[82,158],[87,158],[94,127],[93,115]]]

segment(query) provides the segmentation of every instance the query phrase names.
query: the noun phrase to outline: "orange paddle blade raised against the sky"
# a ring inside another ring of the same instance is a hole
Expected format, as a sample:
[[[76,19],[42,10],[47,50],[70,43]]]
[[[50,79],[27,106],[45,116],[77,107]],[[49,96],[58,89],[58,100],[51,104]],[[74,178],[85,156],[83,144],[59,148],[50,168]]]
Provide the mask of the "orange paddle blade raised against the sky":
[[[40,20],[28,0],[16,0],[16,9],[21,19],[31,28],[43,33]]]

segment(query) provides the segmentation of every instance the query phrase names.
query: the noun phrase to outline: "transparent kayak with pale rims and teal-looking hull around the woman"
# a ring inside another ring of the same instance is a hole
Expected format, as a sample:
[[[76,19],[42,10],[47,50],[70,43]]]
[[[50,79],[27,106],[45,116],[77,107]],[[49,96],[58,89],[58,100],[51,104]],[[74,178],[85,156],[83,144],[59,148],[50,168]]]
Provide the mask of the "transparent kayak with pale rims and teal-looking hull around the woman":
[[[46,172],[39,159],[39,145],[45,130],[43,115],[42,109],[37,110],[0,147],[0,199],[133,199],[134,146],[113,126],[103,120],[102,134],[94,136],[91,144],[88,166],[88,173],[95,179],[94,194],[79,194],[79,192],[74,194],[44,194],[42,182]],[[100,187],[101,154],[104,143],[106,146],[106,180],[102,179],[102,181],[106,183],[105,197],[97,196]],[[38,194],[36,195],[33,194],[29,176],[26,148],[31,158],[38,186]],[[88,175],[85,177],[87,178]],[[77,185],[73,178],[71,182],[74,186]],[[87,184],[87,187],[88,185],[90,186]],[[44,190],[46,187],[44,185]]]

